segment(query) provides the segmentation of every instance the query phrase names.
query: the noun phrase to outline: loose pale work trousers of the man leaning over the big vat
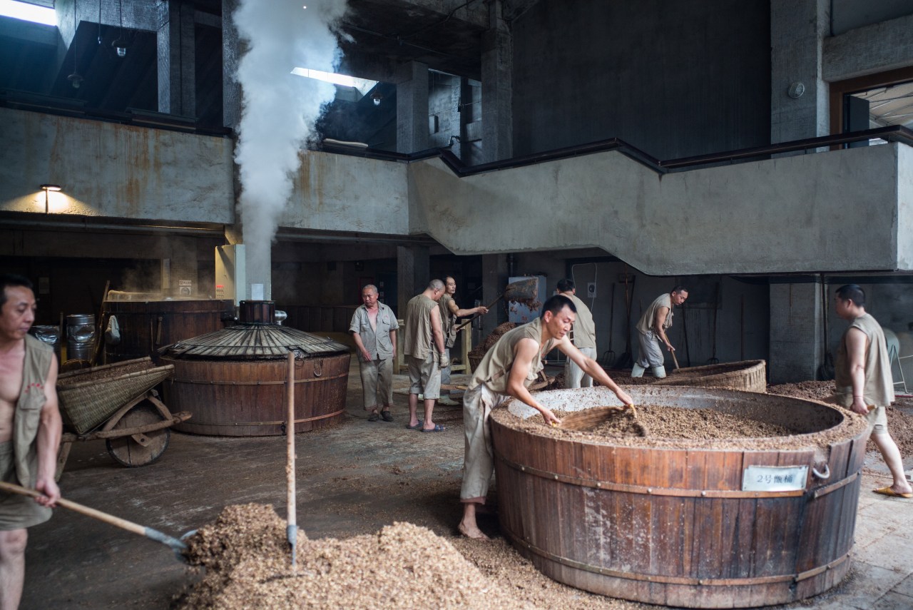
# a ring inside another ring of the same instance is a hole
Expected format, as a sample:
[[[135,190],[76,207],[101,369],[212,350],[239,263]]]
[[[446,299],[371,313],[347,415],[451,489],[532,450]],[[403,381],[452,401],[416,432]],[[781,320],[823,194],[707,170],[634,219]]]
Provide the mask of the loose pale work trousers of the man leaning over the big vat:
[[[477,385],[463,395],[463,426],[466,443],[463,458],[463,487],[459,497],[464,502],[485,504],[488,485],[495,472],[495,454],[491,448],[491,409],[510,398],[498,394],[485,384]]]

